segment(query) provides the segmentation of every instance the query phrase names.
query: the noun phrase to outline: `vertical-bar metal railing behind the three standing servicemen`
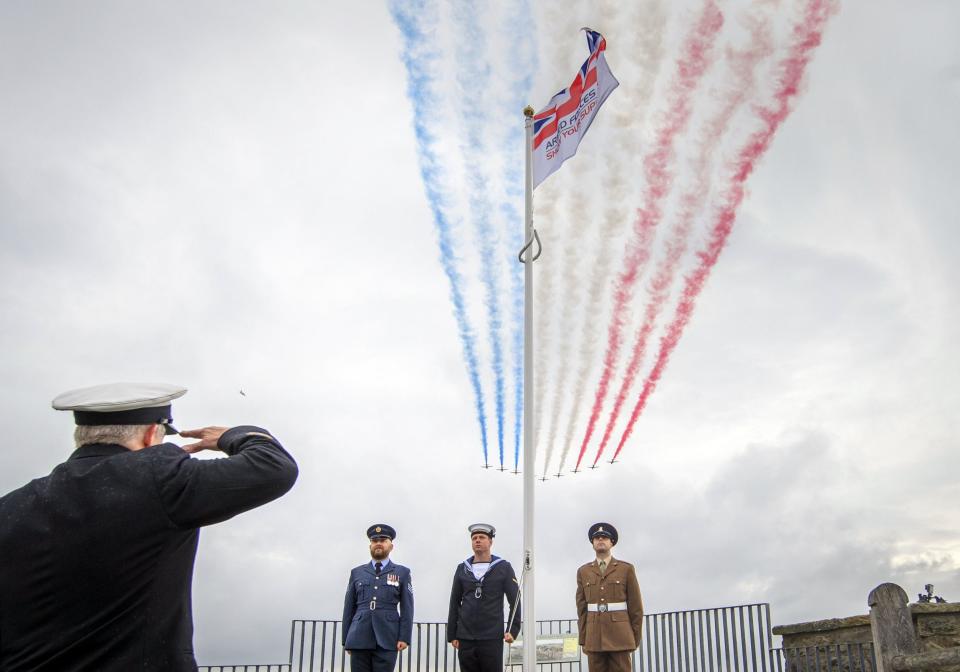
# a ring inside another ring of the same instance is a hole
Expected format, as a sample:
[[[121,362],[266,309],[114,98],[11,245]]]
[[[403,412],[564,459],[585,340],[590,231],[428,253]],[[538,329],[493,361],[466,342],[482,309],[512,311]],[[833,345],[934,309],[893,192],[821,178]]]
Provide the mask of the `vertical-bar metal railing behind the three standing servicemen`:
[[[577,632],[576,619],[537,621],[537,625],[539,634]],[[341,627],[334,620],[293,621],[290,672],[346,672],[349,659],[340,646]],[[633,668],[637,672],[784,672],[770,629],[770,605],[765,603],[647,614]],[[410,647],[398,656],[397,672],[456,672],[456,650],[447,643],[446,634],[446,623],[415,623]],[[580,666],[579,662],[538,665],[541,672],[579,672]]]

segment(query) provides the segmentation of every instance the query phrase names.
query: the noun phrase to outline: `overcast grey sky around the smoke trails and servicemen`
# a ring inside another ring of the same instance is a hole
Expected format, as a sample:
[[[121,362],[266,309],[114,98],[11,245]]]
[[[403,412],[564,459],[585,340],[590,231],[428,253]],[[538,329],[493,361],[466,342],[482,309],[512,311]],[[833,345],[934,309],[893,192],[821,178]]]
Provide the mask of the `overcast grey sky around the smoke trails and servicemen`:
[[[642,97],[615,36],[643,17],[611,6],[534,5],[528,102],[572,77],[581,25],[608,36],[623,100]],[[469,39],[446,20],[444,48]],[[945,0],[848,0],[830,20],[620,460],[538,483],[538,616],[574,616],[598,520],[648,612],[847,616],[884,581],[960,600],[958,25]],[[258,424],[301,467],[283,499],[201,533],[201,664],[281,662],[290,619],[339,618],[371,523],[399,532],[417,620],[445,618],[469,523],[520,564],[521,477],[479,468],[401,51],[380,3],[0,3],[0,491],[72,451],[54,396],[114,380],[183,384],[178,426]],[[561,171],[599,193],[606,160],[641,175],[642,142],[616,153],[617,95]],[[548,255],[573,222],[539,212]]]

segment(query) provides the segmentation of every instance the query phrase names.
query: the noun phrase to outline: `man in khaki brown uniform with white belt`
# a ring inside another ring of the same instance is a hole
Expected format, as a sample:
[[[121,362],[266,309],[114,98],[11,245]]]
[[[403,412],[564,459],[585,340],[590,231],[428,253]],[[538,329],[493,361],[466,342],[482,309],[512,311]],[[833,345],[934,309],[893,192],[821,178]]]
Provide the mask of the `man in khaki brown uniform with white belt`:
[[[640,646],[643,628],[637,573],[611,555],[619,538],[613,525],[591,525],[587,536],[597,558],[577,570],[580,646],[590,672],[630,672],[630,655]]]

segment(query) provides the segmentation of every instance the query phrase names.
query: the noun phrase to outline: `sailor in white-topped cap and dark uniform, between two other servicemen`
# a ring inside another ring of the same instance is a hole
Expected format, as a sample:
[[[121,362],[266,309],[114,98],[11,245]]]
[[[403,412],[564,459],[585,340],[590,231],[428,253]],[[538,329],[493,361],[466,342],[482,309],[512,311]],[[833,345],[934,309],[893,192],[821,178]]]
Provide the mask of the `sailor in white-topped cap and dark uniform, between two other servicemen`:
[[[520,586],[510,563],[490,553],[496,528],[477,523],[467,529],[473,556],[457,565],[453,575],[447,641],[457,649],[463,672],[501,672],[503,643],[520,634]],[[504,597],[510,605],[507,619]]]

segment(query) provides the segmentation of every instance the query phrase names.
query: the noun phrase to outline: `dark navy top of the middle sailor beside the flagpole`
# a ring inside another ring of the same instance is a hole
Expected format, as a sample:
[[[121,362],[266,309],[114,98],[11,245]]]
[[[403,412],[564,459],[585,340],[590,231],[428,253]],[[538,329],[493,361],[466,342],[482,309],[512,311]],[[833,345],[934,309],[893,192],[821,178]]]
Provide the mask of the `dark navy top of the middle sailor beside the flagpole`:
[[[453,574],[450,590],[450,612],[447,615],[447,641],[455,639],[503,639],[503,598],[507,598],[513,621],[510,634],[520,634],[520,603],[517,601],[517,575],[503,558],[492,556],[490,568],[477,581],[473,575],[473,558],[467,558]],[[477,597],[479,593],[480,597]]]

